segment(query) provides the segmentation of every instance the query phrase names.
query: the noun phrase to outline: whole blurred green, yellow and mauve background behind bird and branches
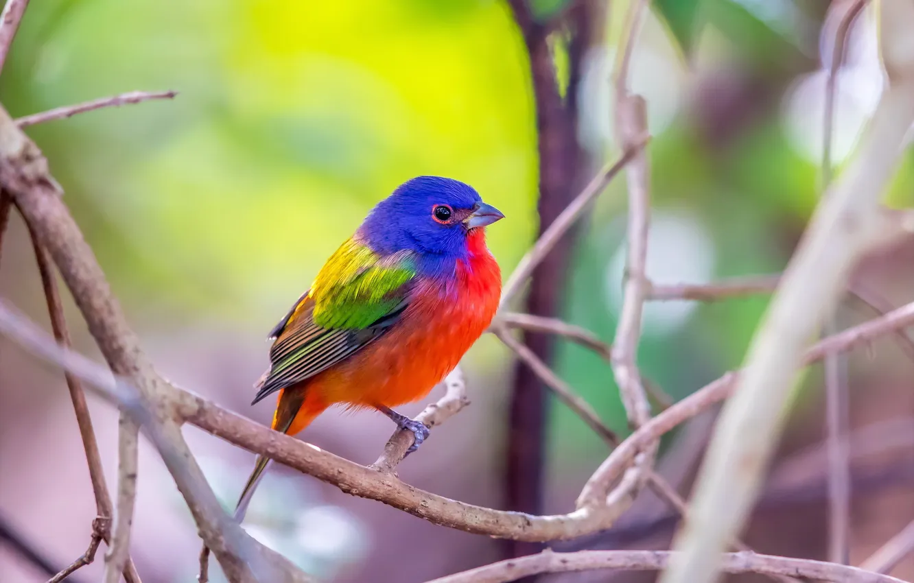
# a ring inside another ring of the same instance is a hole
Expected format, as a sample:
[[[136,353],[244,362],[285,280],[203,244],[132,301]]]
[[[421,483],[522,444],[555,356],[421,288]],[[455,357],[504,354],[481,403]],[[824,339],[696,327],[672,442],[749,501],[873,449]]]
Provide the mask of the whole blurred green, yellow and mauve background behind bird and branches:
[[[534,7],[548,15],[566,4],[539,0]],[[648,102],[654,135],[652,280],[771,273],[789,258],[820,191],[829,64],[820,54],[831,55],[840,12],[828,12],[830,4],[846,3],[652,3],[632,60],[632,88]],[[611,5],[606,44],[587,56],[577,128],[584,148],[607,160],[618,154],[610,74],[628,2]],[[507,217],[488,237],[505,274],[536,233],[534,96],[526,48],[501,1],[33,2],[0,79],[0,101],[14,116],[126,90],[180,92],[174,101],[91,112],[28,133],[48,155],[160,370],[264,423],[271,406],[248,403],[267,363],[265,334],[396,185],[423,174],[474,185]],[[838,80],[837,163],[852,152],[882,86],[868,8],[852,30]],[[912,187],[906,154],[888,203],[908,206]],[[607,341],[621,301],[624,210],[620,180],[580,233],[562,308],[569,321]],[[902,244],[868,260],[855,281],[886,303],[908,302],[912,260],[914,245]],[[18,217],[4,246],[0,292],[47,323]],[[77,347],[97,356],[67,300]],[[766,302],[760,296],[650,304],[639,355],[644,374],[682,398],[739,366]],[[838,317],[847,325],[872,315],[848,298]],[[614,429],[627,430],[600,358],[560,345],[556,366]],[[855,433],[855,561],[914,517],[912,367],[890,340],[849,360],[853,425],[863,431]],[[435,429],[399,475],[436,493],[501,507],[511,355],[485,336],[464,370],[473,406]],[[113,489],[116,414],[94,401],[91,410]],[[749,529],[749,543],[760,552],[825,556],[822,416],[821,371],[811,369]],[[664,443],[661,467],[683,487],[707,428],[699,419]],[[381,416],[329,412],[303,439],[368,463],[391,429]],[[194,429],[187,434],[232,504],[252,456]],[[605,455],[600,440],[554,404],[547,512],[567,512]],[[62,376],[0,339],[3,524],[63,566],[85,550],[94,512]],[[494,540],[430,525],[280,467],[255,497],[248,525],[302,567],[335,581],[422,581],[501,552]],[[673,528],[663,506],[645,495],[619,529],[566,547],[661,548]],[[197,552],[190,515],[143,444],[132,545],[143,581],[192,580]],[[101,554],[72,580],[100,574]],[[895,574],[914,577],[914,561]],[[0,540],[0,580],[46,579]]]

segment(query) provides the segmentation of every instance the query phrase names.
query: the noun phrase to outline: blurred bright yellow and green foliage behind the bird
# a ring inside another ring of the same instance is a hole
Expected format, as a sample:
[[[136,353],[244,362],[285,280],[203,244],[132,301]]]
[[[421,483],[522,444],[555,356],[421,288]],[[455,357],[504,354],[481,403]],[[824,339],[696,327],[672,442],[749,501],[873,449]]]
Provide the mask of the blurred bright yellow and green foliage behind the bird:
[[[567,4],[531,2],[537,18]],[[612,3],[608,47],[628,4]],[[669,121],[652,124],[657,212],[687,211],[714,249],[714,277],[780,270],[818,196],[817,164],[785,137],[780,101],[796,75],[818,66],[819,16],[788,0],[652,5],[635,58],[651,51],[681,73],[665,81],[684,95]],[[179,90],[174,102],[29,133],[133,320],[181,334],[218,318],[264,334],[367,210],[414,175],[465,180],[502,209],[507,219],[489,240],[505,273],[513,268],[536,230],[527,66],[510,11],[494,0],[58,0],[30,7],[0,100],[16,115],[125,90]],[[609,71],[595,70],[593,86],[607,90]],[[656,111],[667,85],[651,83],[653,69],[633,70],[633,90]],[[724,107],[717,76],[745,91],[739,107]],[[607,111],[608,99],[584,113]],[[733,119],[720,125],[732,131],[720,137],[709,127],[725,112]],[[611,128],[584,115],[579,132],[597,126],[615,155]],[[893,204],[909,202],[912,183],[905,164]],[[607,341],[624,210],[619,180],[591,214],[565,310]],[[649,275],[675,282],[663,266]],[[766,302],[700,305],[663,334],[645,333],[644,374],[681,398],[739,366]],[[495,362],[502,354],[474,350],[473,366],[504,366]],[[625,430],[606,363],[563,345],[558,369]],[[603,455],[565,408],[552,421],[557,461],[590,467]]]

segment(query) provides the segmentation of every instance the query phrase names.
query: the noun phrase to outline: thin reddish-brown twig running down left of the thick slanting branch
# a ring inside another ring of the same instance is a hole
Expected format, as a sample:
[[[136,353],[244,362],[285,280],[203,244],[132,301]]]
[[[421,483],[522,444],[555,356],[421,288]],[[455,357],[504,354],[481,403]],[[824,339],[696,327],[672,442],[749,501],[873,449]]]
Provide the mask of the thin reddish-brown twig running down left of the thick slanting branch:
[[[54,277],[54,273],[51,270],[48,251],[41,246],[41,241],[38,240],[34,229],[29,227],[28,234],[32,239],[32,248],[35,251],[38,274],[41,277],[41,285],[44,288],[45,300],[48,303],[48,314],[50,315],[51,330],[54,333],[54,339],[57,340],[59,345],[69,348],[69,346],[72,345],[69,336],[69,327],[67,326],[67,320],[64,317],[63,303],[60,301],[57,279]],[[105,474],[101,466],[99,442],[95,437],[95,429],[92,428],[92,418],[89,413],[89,406],[86,403],[86,393],[77,376],[65,371],[64,379],[67,381],[69,398],[73,403],[73,412],[76,415],[76,425],[80,429],[82,449],[86,453],[86,465],[89,466],[89,479],[92,482],[92,493],[95,495],[95,512],[97,517],[92,522],[92,537],[94,538],[101,532],[101,540],[108,543],[111,540],[111,522],[114,511],[111,493],[108,492],[108,484],[105,482]],[[102,527],[101,531],[99,530],[100,526]],[[92,548],[91,543],[89,548]],[[77,559],[73,565],[86,559],[88,559],[88,563],[85,563],[85,565],[88,565],[94,558],[95,553],[89,553],[87,551],[82,557]],[[70,567],[72,567],[72,565]],[[129,557],[127,558],[127,562],[122,571],[127,583],[140,582],[140,576],[136,572],[133,560]]]

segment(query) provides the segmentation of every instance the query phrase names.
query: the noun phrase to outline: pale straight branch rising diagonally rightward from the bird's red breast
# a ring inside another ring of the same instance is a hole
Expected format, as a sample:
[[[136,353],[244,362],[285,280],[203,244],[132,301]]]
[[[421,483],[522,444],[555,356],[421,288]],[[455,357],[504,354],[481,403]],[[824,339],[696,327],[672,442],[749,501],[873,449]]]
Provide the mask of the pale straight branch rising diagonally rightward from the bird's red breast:
[[[517,292],[520,292],[526,278],[530,277],[530,274],[533,273],[533,270],[536,269],[540,261],[546,258],[549,250],[551,250],[556,243],[558,243],[558,240],[568,232],[569,228],[574,225],[575,221],[577,221],[587,207],[590,206],[590,202],[597,196],[600,196],[600,193],[603,192],[606,185],[610,184],[611,180],[625,167],[625,164],[628,164],[634,155],[643,149],[648,141],[649,138],[644,136],[635,147],[623,152],[619,160],[613,164],[607,164],[600,170],[600,173],[590,181],[590,184],[580,191],[580,194],[571,201],[571,204],[569,204],[568,207],[565,207],[565,210],[556,217],[556,220],[552,221],[552,224],[549,225],[542,237],[537,239],[534,246],[527,251],[526,255],[517,263],[514,272],[511,273],[508,281],[505,282],[505,286],[502,288],[501,308],[504,308],[508,302],[511,302],[511,300],[514,299]]]

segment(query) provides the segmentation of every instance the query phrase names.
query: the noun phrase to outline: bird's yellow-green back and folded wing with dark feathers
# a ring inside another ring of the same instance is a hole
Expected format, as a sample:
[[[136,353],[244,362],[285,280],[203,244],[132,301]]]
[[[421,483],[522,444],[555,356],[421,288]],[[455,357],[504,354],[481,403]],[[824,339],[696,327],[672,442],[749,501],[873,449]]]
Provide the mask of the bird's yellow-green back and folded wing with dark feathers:
[[[385,334],[409,303],[409,254],[386,258],[346,241],[271,331],[270,370],[254,403],[323,372]]]

